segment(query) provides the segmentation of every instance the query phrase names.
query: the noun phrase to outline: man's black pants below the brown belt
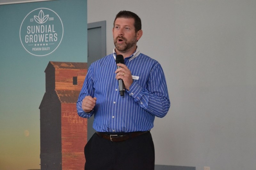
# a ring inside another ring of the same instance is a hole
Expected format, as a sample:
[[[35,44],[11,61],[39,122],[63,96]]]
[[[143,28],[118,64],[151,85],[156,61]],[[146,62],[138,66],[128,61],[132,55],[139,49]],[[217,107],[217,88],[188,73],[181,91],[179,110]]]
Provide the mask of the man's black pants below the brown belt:
[[[150,132],[111,142],[96,133],[84,147],[85,170],[153,170],[155,149]]]

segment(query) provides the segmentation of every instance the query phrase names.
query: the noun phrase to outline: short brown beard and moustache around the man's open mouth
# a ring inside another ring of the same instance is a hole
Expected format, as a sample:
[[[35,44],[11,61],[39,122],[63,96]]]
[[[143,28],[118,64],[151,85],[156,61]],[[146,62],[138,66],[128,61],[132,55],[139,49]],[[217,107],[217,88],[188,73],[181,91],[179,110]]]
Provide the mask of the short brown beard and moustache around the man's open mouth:
[[[118,39],[122,39],[123,43],[119,44]],[[127,41],[127,39],[124,38],[123,36],[117,36],[116,39],[114,39],[115,47],[120,52],[126,52],[127,50],[132,48],[134,45],[136,45],[136,43],[137,43],[136,35],[133,37],[131,41]]]

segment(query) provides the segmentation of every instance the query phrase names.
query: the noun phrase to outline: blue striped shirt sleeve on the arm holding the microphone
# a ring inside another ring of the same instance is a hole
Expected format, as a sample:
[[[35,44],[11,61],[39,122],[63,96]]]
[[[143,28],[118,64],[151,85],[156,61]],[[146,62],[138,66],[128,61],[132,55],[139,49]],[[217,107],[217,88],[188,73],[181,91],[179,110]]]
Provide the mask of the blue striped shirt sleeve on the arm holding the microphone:
[[[150,71],[147,88],[133,81],[127,92],[140,107],[156,117],[164,117],[170,108],[164,71],[159,63]]]

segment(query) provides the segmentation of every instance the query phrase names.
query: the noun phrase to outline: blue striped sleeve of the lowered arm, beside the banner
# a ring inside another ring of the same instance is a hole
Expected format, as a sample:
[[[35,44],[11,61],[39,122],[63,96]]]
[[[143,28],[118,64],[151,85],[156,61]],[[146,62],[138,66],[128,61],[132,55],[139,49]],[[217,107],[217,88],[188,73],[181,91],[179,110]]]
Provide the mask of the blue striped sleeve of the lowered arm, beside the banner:
[[[94,90],[93,90],[93,73],[92,73],[92,68],[89,67],[87,75],[84,80],[83,87],[81,89],[81,92],[78,96],[78,100],[76,102],[76,109],[77,109],[77,114],[80,117],[83,118],[90,118],[93,115],[93,110],[89,113],[84,112],[82,109],[82,101],[85,96],[93,96],[94,95]]]

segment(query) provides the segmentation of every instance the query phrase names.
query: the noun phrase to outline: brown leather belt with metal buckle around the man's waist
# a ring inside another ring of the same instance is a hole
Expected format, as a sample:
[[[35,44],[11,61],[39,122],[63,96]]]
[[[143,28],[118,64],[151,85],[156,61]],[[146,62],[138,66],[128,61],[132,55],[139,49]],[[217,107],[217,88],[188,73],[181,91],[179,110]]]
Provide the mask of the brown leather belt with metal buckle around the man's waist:
[[[102,137],[104,139],[111,140],[112,142],[121,142],[121,141],[124,141],[124,140],[127,140],[127,139],[131,139],[133,137],[140,136],[140,135],[142,135],[144,133],[147,133],[147,132],[149,132],[149,131],[131,132],[131,133],[127,133],[127,134],[124,134],[124,135],[107,135],[107,134],[102,133],[102,132],[96,132],[96,133],[100,137]]]

